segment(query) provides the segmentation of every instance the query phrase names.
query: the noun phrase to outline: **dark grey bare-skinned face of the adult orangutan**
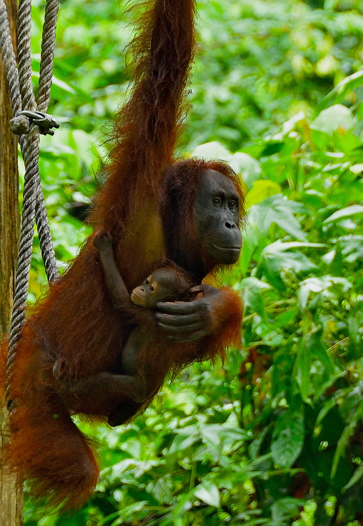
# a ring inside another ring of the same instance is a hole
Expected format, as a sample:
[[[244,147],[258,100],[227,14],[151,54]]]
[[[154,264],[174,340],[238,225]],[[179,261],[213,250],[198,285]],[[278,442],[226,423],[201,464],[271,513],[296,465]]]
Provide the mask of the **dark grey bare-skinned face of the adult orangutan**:
[[[194,201],[206,270],[232,265],[240,257],[240,198],[231,179],[205,170]]]

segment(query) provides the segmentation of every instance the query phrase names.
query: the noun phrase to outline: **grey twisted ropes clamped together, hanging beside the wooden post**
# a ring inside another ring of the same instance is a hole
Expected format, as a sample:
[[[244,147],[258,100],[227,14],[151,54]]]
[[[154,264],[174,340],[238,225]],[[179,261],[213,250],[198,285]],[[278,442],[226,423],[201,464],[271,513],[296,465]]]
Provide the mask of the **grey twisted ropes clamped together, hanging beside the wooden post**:
[[[15,128],[22,129],[19,137],[20,148],[25,164],[22,227],[18,265],[15,279],[14,307],[7,356],[6,397],[13,376],[16,344],[22,337],[25,322],[25,307],[28,294],[30,261],[32,259],[34,222],[36,220],[39,244],[42,251],[48,281],[58,277],[56,259],[48,226],[47,211],[39,176],[39,127],[20,111],[45,112],[50,96],[53,69],[56,19],[59,0],[47,0],[45,24],[43,28],[42,55],[40,59],[40,77],[37,99],[32,86],[32,57],[30,55],[31,0],[19,1],[18,14],[18,70],[9,30],[6,5],[0,0],[0,47],[9,85]],[[12,128],[13,129],[13,128]],[[29,133],[27,133],[29,132]],[[27,134],[27,135],[25,135]],[[8,404],[11,405],[8,400]]]

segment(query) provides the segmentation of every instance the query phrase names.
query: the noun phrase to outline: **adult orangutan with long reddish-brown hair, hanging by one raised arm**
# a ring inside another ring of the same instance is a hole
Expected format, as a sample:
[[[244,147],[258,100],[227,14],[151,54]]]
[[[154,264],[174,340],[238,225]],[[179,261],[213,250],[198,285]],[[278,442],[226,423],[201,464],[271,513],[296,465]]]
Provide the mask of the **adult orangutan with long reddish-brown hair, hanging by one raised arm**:
[[[201,285],[236,262],[242,246],[243,197],[233,170],[220,161],[173,158],[193,55],[194,0],[149,0],[147,7],[133,43],[134,88],[91,214],[95,229],[114,240],[128,292],[164,258]],[[135,325],[109,298],[94,236],[28,317],[9,393],[10,465],[31,480],[36,496],[68,508],[84,503],[98,478],[94,452],[71,414],[116,425],[140,409],[121,381],[120,356]],[[202,298],[158,304],[155,316],[169,343],[168,361],[152,348],[142,358],[150,370],[163,363],[152,392],[168,369],[213,358],[238,341],[242,307],[231,290],[208,287]]]

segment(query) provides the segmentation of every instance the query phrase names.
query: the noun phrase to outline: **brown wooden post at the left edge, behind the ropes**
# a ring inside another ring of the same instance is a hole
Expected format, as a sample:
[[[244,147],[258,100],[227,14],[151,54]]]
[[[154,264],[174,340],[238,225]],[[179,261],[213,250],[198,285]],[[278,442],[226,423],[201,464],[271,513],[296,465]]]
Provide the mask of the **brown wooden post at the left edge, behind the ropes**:
[[[16,41],[17,2],[6,0],[13,41]],[[19,237],[17,138],[9,120],[12,109],[0,58],[0,341],[10,329]],[[0,400],[0,451],[9,438],[8,414]],[[0,464],[0,526],[23,522],[22,481]]]

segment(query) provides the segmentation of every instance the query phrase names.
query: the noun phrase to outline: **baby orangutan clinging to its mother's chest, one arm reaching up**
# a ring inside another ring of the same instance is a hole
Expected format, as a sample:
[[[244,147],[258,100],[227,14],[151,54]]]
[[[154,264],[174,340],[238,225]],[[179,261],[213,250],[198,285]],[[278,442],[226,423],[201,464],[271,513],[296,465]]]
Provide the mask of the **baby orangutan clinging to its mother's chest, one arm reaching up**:
[[[117,390],[120,391],[121,386],[129,401],[127,404],[120,403],[108,416],[109,424],[118,426],[150,403],[174,359],[172,354],[171,363],[165,358],[167,342],[151,309],[155,309],[159,301],[188,301],[191,299],[190,294],[195,297],[203,286],[191,289],[193,284],[189,276],[181,268],[168,262],[168,266],[155,269],[142,285],[133,289],[130,297],[116,265],[112,239],[101,232],[96,234],[93,244],[99,252],[112,305],[120,308],[122,316],[129,320],[131,327],[121,353],[121,374],[117,375]],[[168,345],[177,348],[182,344],[169,342]],[[53,372],[59,379],[62,369],[61,360],[57,360]],[[98,381],[110,382],[107,375],[107,372],[100,373]],[[95,392],[97,386],[94,384],[96,382],[92,382],[92,385],[88,383],[87,389]]]

